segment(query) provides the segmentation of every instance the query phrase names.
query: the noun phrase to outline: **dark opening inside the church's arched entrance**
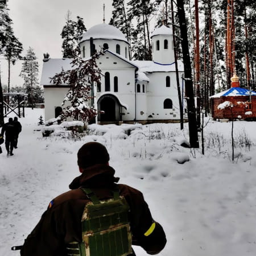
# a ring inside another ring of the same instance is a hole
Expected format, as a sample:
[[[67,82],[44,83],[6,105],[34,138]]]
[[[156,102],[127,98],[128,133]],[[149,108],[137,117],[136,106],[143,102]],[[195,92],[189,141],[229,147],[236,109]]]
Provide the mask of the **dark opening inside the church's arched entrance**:
[[[113,98],[102,98],[100,110],[105,112],[105,114],[101,114],[101,121],[115,121],[115,101]]]

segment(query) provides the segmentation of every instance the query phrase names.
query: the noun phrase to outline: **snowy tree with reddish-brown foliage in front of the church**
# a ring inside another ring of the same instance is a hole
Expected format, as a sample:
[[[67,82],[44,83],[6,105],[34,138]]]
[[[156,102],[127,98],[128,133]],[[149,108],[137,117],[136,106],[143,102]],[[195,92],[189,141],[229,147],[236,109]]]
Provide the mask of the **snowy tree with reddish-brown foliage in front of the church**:
[[[89,122],[97,115],[97,108],[93,102],[93,87],[94,84],[100,84],[102,74],[96,64],[96,59],[102,54],[102,52],[95,53],[89,60],[74,59],[71,62],[73,69],[62,70],[51,78],[54,84],[70,86],[62,103],[64,106],[61,114],[62,120],[71,117],[75,120]],[[65,106],[66,102],[68,106]]]

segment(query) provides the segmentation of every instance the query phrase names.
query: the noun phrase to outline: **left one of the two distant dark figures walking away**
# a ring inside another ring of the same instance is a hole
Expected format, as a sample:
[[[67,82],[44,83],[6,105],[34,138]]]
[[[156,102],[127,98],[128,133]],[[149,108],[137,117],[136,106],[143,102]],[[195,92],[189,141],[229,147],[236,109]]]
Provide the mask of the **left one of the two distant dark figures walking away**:
[[[13,155],[14,148],[14,137],[15,137],[15,127],[13,118],[9,118],[9,122],[5,123],[2,127],[1,136],[5,134],[5,147],[7,150],[7,156]]]

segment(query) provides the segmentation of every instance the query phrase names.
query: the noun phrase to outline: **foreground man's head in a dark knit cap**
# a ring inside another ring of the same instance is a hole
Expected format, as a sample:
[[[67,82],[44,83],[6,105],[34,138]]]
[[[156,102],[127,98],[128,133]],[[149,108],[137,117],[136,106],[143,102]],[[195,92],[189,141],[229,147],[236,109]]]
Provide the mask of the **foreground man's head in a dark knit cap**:
[[[106,147],[98,142],[85,143],[77,152],[77,164],[80,172],[94,164],[108,164],[109,153]]]

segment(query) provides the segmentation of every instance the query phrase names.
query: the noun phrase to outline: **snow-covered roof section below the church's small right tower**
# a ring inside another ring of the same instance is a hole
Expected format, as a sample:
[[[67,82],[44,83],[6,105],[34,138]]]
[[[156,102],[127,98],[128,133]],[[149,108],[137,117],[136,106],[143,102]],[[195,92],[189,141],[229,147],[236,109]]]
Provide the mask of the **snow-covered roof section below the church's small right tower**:
[[[139,67],[140,72],[171,72],[175,71],[175,63],[161,65],[151,60],[133,60],[133,63]],[[184,71],[184,65],[181,60],[177,60],[179,72]]]

